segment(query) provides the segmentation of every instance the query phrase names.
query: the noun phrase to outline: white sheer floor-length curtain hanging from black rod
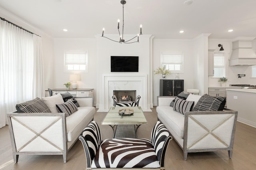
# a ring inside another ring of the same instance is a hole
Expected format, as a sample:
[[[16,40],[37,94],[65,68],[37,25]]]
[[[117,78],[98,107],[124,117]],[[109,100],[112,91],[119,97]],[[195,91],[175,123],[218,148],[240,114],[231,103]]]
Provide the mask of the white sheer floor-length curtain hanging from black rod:
[[[40,45],[41,42],[34,45],[33,34],[0,20],[0,128],[8,124],[6,113],[16,111],[17,103],[41,97],[38,93],[39,89],[42,91]],[[39,79],[37,76],[41,81],[35,81]],[[39,89],[38,83],[41,83]]]

